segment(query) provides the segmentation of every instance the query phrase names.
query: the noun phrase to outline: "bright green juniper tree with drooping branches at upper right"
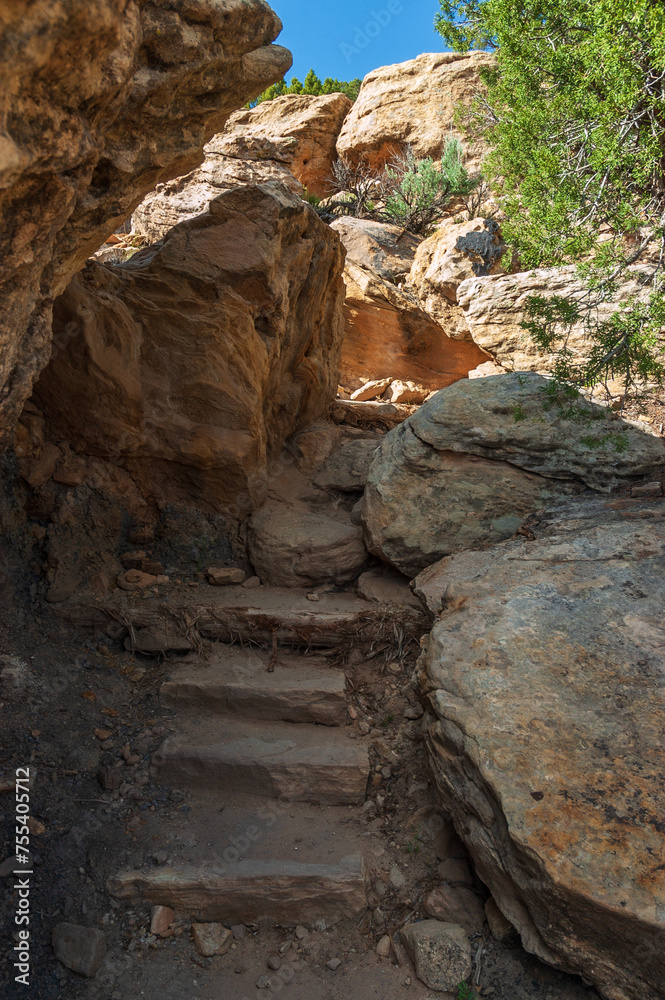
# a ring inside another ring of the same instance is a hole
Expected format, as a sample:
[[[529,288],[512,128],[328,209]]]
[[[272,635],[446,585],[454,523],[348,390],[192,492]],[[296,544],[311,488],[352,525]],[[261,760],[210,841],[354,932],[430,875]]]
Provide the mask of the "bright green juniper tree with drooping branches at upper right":
[[[586,283],[571,300],[534,298],[525,328],[558,353],[559,380],[662,383],[665,4],[440,0],[436,25],[457,51],[496,53],[459,121],[491,147],[504,239],[524,268],[577,262]],[[654,245],[648,303],[621,302],[598,322],[597,306]],[[584,360],[568,349],[574,323],[592,342]]]

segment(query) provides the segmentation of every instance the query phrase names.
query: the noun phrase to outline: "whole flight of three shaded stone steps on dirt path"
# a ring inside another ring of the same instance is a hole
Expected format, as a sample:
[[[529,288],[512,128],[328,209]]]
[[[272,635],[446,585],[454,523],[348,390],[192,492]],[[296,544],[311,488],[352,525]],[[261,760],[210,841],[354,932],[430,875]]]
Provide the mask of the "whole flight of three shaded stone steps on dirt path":
[[[216,644],[170,671],[177,731],[153,755],[160,785],[187,793],[196,847],[124,871],[117,899],[185,919],[328,925],[364,912],[368,747],[349,739],[345,675],[323,656]]]

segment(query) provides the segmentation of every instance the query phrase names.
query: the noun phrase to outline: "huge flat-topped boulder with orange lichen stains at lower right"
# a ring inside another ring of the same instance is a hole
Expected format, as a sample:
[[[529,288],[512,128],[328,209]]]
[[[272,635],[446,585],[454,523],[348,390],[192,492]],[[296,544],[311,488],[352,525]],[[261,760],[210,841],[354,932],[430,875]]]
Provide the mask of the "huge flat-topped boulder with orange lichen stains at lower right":
[[[416,581],[443,806],[525,948],[608,1000],[664,995],[663,513],[569,502]]]

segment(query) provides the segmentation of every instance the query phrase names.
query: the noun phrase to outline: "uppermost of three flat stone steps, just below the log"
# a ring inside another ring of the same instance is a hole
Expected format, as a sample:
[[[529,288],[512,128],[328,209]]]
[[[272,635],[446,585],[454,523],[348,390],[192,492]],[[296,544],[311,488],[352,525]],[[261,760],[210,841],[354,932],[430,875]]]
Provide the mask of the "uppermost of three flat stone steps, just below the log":
[[[343,726],[346,680],[340,670],[314,670],[305,657],[280,657],[225,646],[207,663],[185,663],[161,687],[164,701],[243,718]],[[292,665],[299,661],[298,666]]]

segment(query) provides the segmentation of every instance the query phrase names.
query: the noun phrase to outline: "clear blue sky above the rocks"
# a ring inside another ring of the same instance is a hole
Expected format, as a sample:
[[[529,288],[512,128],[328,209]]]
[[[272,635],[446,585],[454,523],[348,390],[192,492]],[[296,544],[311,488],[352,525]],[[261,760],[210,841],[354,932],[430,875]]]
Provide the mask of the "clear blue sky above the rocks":
[[[364,77],[379,66],[442,52],[437,0],[269,0],[284,22],[278,39],[293,53],[287,80],[313,68],[323,79]]]

